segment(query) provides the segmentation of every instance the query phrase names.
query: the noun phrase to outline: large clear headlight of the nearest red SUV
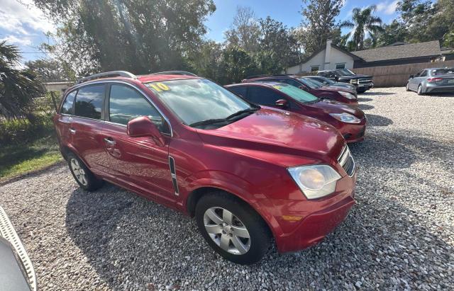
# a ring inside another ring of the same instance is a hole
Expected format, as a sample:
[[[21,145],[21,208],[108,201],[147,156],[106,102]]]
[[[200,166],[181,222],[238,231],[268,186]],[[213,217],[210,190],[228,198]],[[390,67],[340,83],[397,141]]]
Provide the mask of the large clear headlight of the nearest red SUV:
[[[336,181],[341,178],[331,166],[295,166],[288,169],[307,199],[321,198],[336,190]]]

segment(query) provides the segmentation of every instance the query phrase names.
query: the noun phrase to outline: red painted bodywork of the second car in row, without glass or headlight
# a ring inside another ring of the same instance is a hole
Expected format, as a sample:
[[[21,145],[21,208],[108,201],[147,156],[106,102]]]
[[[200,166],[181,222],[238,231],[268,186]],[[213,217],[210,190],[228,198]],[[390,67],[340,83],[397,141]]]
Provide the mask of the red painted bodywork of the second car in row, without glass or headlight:
[[[341,132],[347,142],[360,142],[364,139],[367,118],[364,112],[362,112],[362,110],[360,110],[359,108],[346,105],[345,103],[326,99],[316,103],[301,103],[291,96],[288,96],[287,94],[273,88],[273,85],[276,84],[277,83],[242,83],[228,85],[225,87],[227,89],[238,86],[265,87],[268,90],[272,90],[277,96],[279,96],[279,100],[276,102],[276,105],[272,107],[281,108],[326,122],[329,125],[336,127],[336,130]],[[292,105],[294,106],[290,106],[289,103],[292,103]],[[340,120],[329,115],[330,113],[348,113],[358,118],[360,120],[360,123],[341,122]]]

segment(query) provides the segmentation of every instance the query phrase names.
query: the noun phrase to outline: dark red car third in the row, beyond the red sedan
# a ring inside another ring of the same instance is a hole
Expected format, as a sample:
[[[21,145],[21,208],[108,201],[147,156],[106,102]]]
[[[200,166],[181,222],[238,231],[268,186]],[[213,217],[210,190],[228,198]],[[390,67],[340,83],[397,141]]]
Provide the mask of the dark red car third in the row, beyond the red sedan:
[[[262,76],[250,76],[247,79],[241,81],[242,83],[250,82],[279,82],[295,86],[299,89],[311,93],[321,99],[331,99],[348,105],[358,106],[358,93],[356,91],[347,88],[334,88],[323,86],[323,84],[317,84],[319,82],[304,79],[301,76],[287,75],[287,74],[275,74],[275,75],[262,75]]]

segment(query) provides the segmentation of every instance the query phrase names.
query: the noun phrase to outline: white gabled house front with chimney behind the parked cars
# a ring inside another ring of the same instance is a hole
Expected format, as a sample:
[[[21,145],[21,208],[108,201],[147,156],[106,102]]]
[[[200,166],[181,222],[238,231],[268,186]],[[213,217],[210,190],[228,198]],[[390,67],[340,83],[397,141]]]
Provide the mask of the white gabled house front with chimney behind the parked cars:
[[[332,40],[326,41],[326,47],[315,52],[305,62],[286,69],[287,74],[301,72],[317,72],[324,69],[353,69],[353,63],[357,56],[332,44]]]

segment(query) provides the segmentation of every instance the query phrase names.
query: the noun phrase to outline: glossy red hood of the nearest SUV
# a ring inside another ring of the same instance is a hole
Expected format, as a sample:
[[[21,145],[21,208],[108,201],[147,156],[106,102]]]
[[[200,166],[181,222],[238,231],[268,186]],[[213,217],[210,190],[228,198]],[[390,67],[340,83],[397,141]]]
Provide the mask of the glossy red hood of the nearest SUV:
[[[263,106],[260,110],[215,130],[197,130],[202,141],[219,147],[233,147],[336,159],[344,140],[325,122],[305,115]]]

